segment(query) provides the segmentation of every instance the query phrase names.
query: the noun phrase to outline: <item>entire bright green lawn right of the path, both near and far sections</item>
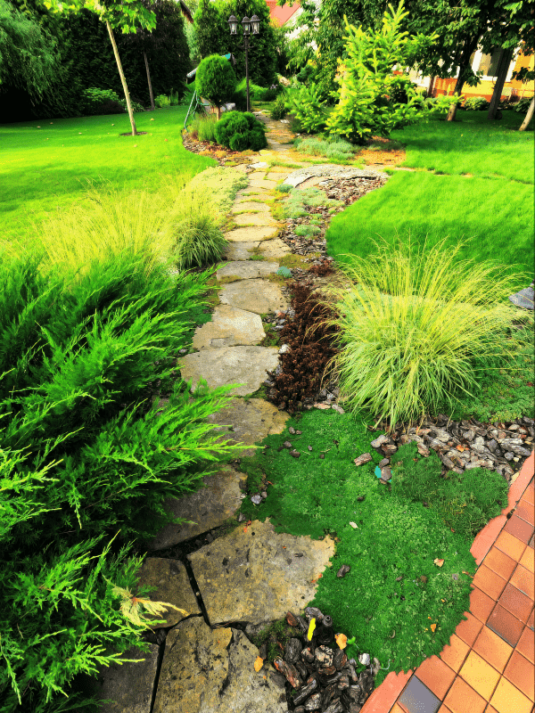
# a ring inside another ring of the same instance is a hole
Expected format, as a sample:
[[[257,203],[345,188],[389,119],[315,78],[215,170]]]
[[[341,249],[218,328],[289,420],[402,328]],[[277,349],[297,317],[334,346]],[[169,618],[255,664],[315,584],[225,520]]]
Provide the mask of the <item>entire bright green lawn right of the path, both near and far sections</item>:
[[[532,275],[533,133],[513,130],[522,120],[514,111],[492,124],[485,112],[460,116],[392,134],[407,145],[407,167],[421,170],[394,171],[383,188],[333,217],[326,234],[333,257],[366,256],[379,237],[394,243],[410,236],[415,244],[447,238],[466,242],[459,258],[494,259]]]

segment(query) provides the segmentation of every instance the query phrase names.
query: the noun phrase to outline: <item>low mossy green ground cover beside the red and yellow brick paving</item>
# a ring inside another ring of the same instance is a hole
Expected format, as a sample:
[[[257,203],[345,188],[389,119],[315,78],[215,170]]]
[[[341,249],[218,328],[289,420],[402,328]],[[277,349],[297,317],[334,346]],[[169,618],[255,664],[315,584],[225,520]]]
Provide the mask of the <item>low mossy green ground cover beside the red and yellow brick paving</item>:
[[[381,456],[370,448],[376,434],[366,422],[313,411],[288,421],[290,426],[302,435],[285,430],[270,436],[257,455],[243,459],[251,492],[264,475],[272,485],[267,500],[256,506],[247,498],[242,511],[251,519],[269,517],[277,531],[335,537],[332,567],[319,580],[312,604],[333,616],[337,631],[356,636],[357,652],[376,656],[385,669],[416,668],[449,642],[469,608],[471,577],[465,572],[475,572],[473,528],[499,512],[505,480],[488,471],[472,471],[465,484],[440,479],[437,456],[422,459],[411,445],[392,457],[394,466],[401,465],[399,473],[394,467],[389,491],[374,475]],[[300,451],[299,459],[278,450],[285,440]],[[358,455],[371,451],[372,463],[354,465]],[[481,480],[487,487],[478,500],[474,491]],[[435,559],[444,560],[443,566]],[[350,572],[337,578],[342,564]]]

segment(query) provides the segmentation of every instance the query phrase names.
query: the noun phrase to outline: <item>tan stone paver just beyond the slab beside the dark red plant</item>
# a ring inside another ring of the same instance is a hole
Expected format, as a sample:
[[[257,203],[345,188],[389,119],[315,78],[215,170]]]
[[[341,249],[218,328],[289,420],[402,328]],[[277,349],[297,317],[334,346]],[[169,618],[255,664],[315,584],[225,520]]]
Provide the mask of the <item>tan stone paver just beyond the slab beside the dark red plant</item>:
[[[258,315],[230,305],[218,305],[212,315],[212,321],[195,330],[193,348],[243,347],[259,344],[265,336],[266,332]]]

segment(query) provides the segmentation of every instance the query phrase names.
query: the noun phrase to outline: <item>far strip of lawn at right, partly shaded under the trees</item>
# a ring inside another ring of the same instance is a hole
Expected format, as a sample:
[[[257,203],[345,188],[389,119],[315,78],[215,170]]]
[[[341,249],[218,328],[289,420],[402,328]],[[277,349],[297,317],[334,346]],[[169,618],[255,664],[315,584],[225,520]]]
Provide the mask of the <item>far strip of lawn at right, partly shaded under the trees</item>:
[[[519,132],[524,114],[504,111],[489,121],[486,111],[457,111],[458,121],[432,117],[429,122],[394,131],[407,145],[404,166],[473,176],[504,176],[533,183],[533,122]]]

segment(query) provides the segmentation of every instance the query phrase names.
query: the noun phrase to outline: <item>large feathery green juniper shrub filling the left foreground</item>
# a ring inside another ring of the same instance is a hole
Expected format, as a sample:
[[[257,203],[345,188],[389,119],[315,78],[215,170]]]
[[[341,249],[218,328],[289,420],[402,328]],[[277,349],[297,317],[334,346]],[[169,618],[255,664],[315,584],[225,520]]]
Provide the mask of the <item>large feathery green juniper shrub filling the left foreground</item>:
[[[3,713],[63,709],[74,676],[140,644],[128,540],[173,520],[166,498],[233,448],[206,422],[227,389],[193,392],[175,373],[211,272],[172,276],[146,242],[98,250],[90,235],[85,264],[61,251],[0,263]]]

